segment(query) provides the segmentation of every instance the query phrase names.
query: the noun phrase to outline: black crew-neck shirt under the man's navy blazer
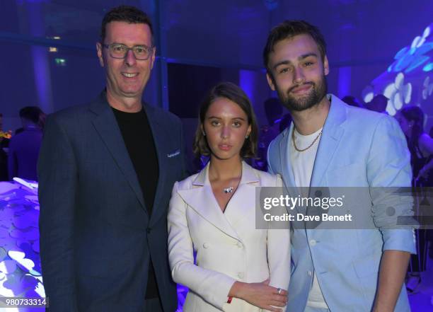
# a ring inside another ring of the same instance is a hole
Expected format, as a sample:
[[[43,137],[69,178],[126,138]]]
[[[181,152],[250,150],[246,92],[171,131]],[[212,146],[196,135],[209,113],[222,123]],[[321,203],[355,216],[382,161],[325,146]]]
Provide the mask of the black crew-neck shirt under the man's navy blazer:
[[[146,204],[149,218],[154,205],[156,187],[158,185],[158,157],[154,137],[151,132],[146,112],[142,108],[139,112],[122,112],[112,108],[122,133],[129,158],[134,165],[139,185],[142,188],[144,204]],[[149,276],[147,279],[146,299],[158,297],[156,277],[152,261],[149,262]]]

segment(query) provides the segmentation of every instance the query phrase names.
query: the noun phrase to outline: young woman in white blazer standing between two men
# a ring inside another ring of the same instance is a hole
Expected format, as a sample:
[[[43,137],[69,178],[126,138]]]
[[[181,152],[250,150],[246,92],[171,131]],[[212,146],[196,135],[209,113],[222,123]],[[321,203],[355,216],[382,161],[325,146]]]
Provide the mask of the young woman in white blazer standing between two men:
[[[290,231],[255,229],[255,187],[282,186],[257,171],[258,128],[246,94],[219,83],[200,108],[194,149],[210,155],[198,174],[175,183],[168,212],[168,258],[187,286],[183,311],[284,311]],[[194,261],[197,253],[197,262]]]

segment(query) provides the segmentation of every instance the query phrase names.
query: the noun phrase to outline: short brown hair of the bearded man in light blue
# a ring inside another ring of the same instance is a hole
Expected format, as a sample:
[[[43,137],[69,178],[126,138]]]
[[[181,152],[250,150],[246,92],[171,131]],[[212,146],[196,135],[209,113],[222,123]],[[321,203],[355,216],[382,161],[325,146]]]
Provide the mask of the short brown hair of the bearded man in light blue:
[[[274,51],[275,45],[284,39],[289,39],[296,35],[310,35],[316,42],[319,52],[321,52],[322,61],[325,60],[326,42],[321,31],[306,21],[287,20],[272,28],[267,37],[265,49],[263,49],[263,63],[268,73],[270,73],[269,54]]]

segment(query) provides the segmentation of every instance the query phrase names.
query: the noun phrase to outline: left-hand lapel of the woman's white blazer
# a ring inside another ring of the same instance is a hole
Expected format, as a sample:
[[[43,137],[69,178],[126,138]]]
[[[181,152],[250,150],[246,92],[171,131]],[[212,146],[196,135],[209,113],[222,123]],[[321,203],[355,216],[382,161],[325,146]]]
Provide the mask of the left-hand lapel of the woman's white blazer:
[[[239,240],[238,234],[227,221],[212,192],[212,186],[209,183],[209,163],[197,175],[191,189],[179,190],[178,193],[197,214],[200,214],[220,231]]]

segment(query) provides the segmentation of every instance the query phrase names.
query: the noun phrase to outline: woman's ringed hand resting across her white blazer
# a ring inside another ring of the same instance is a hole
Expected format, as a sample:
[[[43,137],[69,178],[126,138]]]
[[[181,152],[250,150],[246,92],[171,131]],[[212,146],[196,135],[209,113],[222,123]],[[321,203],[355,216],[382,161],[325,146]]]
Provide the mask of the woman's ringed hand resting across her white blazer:
[[[269,286],[269,279],[261,283],[235,282],[230,289],[229,296],[243,299],[253,306],[265,308],[272,312],[281,312],[287,304],[287,291]]]

